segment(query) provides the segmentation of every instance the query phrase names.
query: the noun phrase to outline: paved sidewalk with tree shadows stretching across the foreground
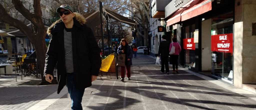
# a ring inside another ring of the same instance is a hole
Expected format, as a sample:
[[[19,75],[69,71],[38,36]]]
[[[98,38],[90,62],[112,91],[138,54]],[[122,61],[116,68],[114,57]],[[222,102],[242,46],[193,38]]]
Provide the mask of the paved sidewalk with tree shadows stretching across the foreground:
[[[256,108],[256,94],[184,68],[180,68],[179,74],[162,74],[159,65],[155,65],[153,61],[153,58],[144,55],[133,59],[131,81],[126,79],[125,82],[116,79],[94,81],[84,93],[83,109],[255,110]],[[56,89],[57,85],[2,87],[0,110],[70,110],[71,100],[67,87],[64,87],[60,94],[56,93]]]

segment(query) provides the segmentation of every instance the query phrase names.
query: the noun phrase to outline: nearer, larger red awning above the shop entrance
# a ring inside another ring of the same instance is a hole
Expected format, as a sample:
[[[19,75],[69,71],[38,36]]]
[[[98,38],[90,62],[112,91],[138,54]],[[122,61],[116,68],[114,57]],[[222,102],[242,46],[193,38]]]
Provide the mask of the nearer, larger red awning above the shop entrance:
[[[211,10],[211,0],[194,0],[186,10],[180,14],[181,21],[193,18]]]

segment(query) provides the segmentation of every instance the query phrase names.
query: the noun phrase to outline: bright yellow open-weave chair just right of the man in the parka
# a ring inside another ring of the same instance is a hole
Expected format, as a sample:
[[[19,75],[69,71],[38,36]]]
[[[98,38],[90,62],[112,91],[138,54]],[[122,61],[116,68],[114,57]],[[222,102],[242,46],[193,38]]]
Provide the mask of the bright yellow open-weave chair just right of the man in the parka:
[[[108,57],[103,59],[101,62],[100,71],[108,72],[109,68],[114,60],[115,54],[110,54]]]

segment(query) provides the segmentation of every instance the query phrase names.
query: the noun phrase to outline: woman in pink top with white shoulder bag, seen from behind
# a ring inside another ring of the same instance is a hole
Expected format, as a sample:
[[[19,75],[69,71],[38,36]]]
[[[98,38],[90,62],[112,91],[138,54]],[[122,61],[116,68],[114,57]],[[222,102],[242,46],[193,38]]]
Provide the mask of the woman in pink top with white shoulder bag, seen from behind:
[[[173,43],[170,44],[169,47],[169,52],[172,49],[172,46],[175,47],[175,53],[171,55],[171,59],[172,59],[172,63],[173,63],[173,73],[175,73],[175,67],[176,67],[176,73],[178,72],[178,58],[179,58],[179,53],[181,51],[181,47],[179,45],[179,43],[177,42],[177,38],[173,38]]]

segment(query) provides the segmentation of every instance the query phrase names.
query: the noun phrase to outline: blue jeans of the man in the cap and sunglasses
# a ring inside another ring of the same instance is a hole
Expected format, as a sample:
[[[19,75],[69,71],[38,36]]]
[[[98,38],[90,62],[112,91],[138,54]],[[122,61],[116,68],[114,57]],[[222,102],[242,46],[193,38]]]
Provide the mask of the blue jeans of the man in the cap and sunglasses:
[[[84,93],[84,89],[79,89],[75,87],[74,74],[67,74],[67,87],[68,93],[71,98],[71,109],[72,110],[82,110],[82,97]]]

